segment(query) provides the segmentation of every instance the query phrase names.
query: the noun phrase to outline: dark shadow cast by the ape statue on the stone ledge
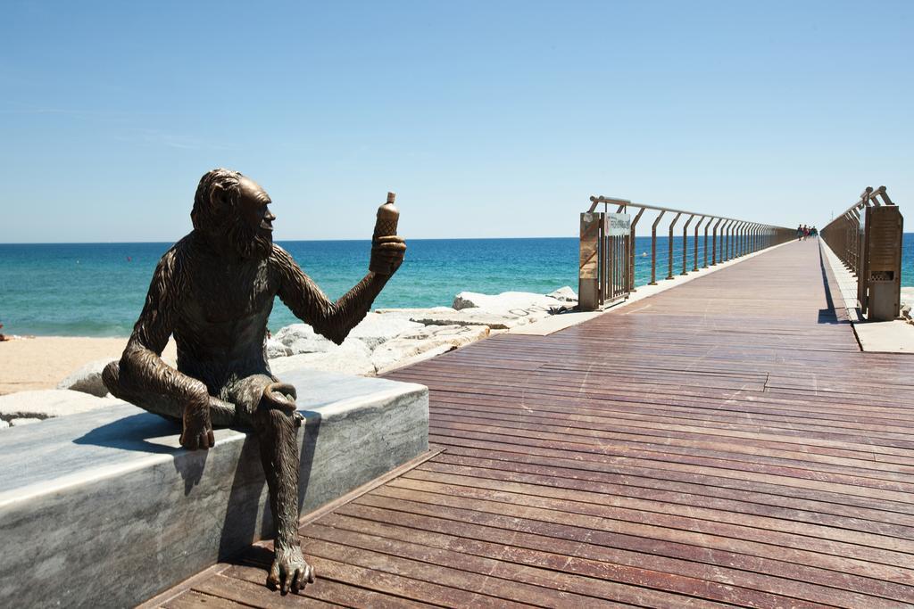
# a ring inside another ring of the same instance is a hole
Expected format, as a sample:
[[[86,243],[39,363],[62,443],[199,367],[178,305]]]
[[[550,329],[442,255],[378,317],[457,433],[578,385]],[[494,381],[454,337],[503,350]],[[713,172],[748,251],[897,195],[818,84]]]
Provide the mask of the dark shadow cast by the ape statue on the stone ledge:
[[[305,421],[299,442],[299,486],[298,506],[301,511],[304,496],[308,491],[314,463],[314,447],[320,433],[322,416],[314,410],[300,410]],[[128,415],[106,425],[100,425],[87,434],[73,440],[74,444],[103,446],[119,451],[132,451],[153,455],[171,455],[175,472],[184,482],[184,495],[189,500],[211,501],[211,498],[193,498],[195,492],[210,493],[228,487],[228,505],[219,539],[219,560],[225,560],[254,541],[271,536],[273,525],[269,500],[259,509],[261,497],[267,497],[267,483],[260,464],[260,446],[254,431],[244,427],[230,427],[243,434],[235,436],[240,449],[222,446],[233,454],[239,450],[239,457],[218,458],[211,454],[219,451],[220,443],[210,450],[186,450],[175,446],[181,433],[178,421],[159,415],[140,413]],[[208,467],[207,467],[208,465]],[[204,474],[207,479],[204,479]],[[163,492],[166,492],[163,489]],[[260,515],[259,515],[260,512]]]

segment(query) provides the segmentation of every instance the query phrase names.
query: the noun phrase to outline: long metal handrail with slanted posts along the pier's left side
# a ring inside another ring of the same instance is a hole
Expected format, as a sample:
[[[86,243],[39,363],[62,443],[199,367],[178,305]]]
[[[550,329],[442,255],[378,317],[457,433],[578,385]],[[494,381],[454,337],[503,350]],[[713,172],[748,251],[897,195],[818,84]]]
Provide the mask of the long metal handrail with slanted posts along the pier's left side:
[[[629,207],[634,207],[638,211],[634,215],[633,220],[630,222],[630,235],[627,239],[628,251],[625,252],[624,256],[627,258],[627,264],[625,264],[625,270],[623,271],[624,278],[624,290],[622,292],[622,298],[627,297],[629,292],[636,291],[634,285],[634,269],[637,264],[637,260],[634,256],[634,243],[635,243],[635,226],[641,220],[642,215],[646,210],[652,210],[659,212],[654,218],[654,222],[651,225],[651,280],[648,285],[656,285],[657,283],[657,226],[660,224],[664,215],[671,216],[669,219],[669,225],[667,227],[667,253],[661,255],[660,259],[663,260],[666,266],[666,278],[672,279],[675,278],[675,257],[681,255],[682,257],[682,267],[680,275],[688,275],[689,272],[696,272],[699,268],[707,268],[708,266],[715,266],[720,262],[725,262],[727,260],[742,257],[749,253],[759,251],[766,247],[772,247],[789,241],[795,235],[795,231],[784,227],[784,226],[773,226],[768,224],[763,224],[759,222],[751,222],[749,220],[732,218],[725,215],[717,214],[705,214],[700,212],[688,211],[685,209],[677,209],[675,207],[666,207],[664,205],[651,205],[644,203],[632,202],[629,199],[622,199],[620,197],[611,197],[594,195],[590,197],[590,208],[587,212],[582,214],[582,222],[584,221],[584,216],[586,215],[589,219],[588,222],[595,221],[595,213],[598,205],[604,205],[604,211],[599,213],[600,218],[604,215],[609,215],[610,205],[616,205],[616,213],[622,213],[628,211]],[[682,226],[683,236],[681,251],[679,245],[675,243],[676,237],[674,236],[675,227],[677,226],[680,218],[685,216],[685,223]],[[601,222],[601,220],[600,220]],[[694,226],[693,236],[694,243],[692,244],[692,268],[689,269],[689,228]],[[701,226],[705,226],[705,237],[704,245],[700,247],[703,252],[703,262],[704,264],[699,267],[699,236],[698,231]],[[710,235],[708,235],[710,231]],[[606,268],[609,268],[609,258],[603,260],[604,252],[609,251],[608,248],[598,247],[594,239],[601,238],[597,235],[602,236],[603,233],[598,231],[597,233],[593,232],[592,228],[588,228],[586,231],[586,238],[588,243],[585,246],[585,228],[582,224],[581,232],[581,274],[580,280],[583,282],[585,279],[590,281],[588,284],[588,289],[586,293],[588,295],[593,295],[592,298],[581,298],[581,308],[597,308],[602,306],[608,300],[604,300],[601,297],[602,291],[607,291],[602,288],[603,283],[600,283],[599,286],[593,283],[595,277],[600,276],[600,273],[594,271],[595,267],[602,268],[601,265],[607,265]],[[710,236],[710,250],[711,250],[711,261],[710,265],[707,260],[707,250],[708,250],[708,236]],[[595,261],[595,257],[596,260]],[[606,256],[610,256],[606,254]],[[600,262],[602,260],[602,262]],[[587,270],[584,268],[587,266]],[[614,267],[613,267],[614,268]],[[601,276],[600,276],[601,277]],[[596,287],[594,287],[596,286]],[[579,292],[584,293],[584,284],[579,284]],[[613,291],[614,299],[620,298],[620,292],[618,290]],[[585,300],[588,300],[590,304],[585,303]]]

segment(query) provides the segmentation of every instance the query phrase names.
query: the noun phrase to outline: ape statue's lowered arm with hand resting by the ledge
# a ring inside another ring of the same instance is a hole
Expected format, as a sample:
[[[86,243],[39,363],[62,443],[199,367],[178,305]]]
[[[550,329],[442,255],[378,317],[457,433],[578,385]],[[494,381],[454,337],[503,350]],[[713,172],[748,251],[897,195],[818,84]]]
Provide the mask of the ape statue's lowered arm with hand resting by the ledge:
[[[121,358],[120,374],[139,391],[169,395],[186,404],[185,431],[188,431],[188,422],[192,423],[194,437],[182,435],[181,444],[188,448],[206,448],[213,444],[209,437],[212,431],[207,385],[178,372],[161,357],[175,328],[175,316],[185,290],[179,257],[180,254],[171,249],[155,268],[143,311],[133,326]]]

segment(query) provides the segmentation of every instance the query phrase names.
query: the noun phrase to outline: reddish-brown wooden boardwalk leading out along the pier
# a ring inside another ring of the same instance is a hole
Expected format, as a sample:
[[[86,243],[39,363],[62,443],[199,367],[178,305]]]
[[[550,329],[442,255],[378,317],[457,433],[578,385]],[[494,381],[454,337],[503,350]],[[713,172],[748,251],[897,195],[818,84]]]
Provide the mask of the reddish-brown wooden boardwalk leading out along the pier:
[[[445,450],[303,526],[307,597],[255,547],[165,606],[911,606],[914,357],[825,277],[794,243],[394,373]]]

